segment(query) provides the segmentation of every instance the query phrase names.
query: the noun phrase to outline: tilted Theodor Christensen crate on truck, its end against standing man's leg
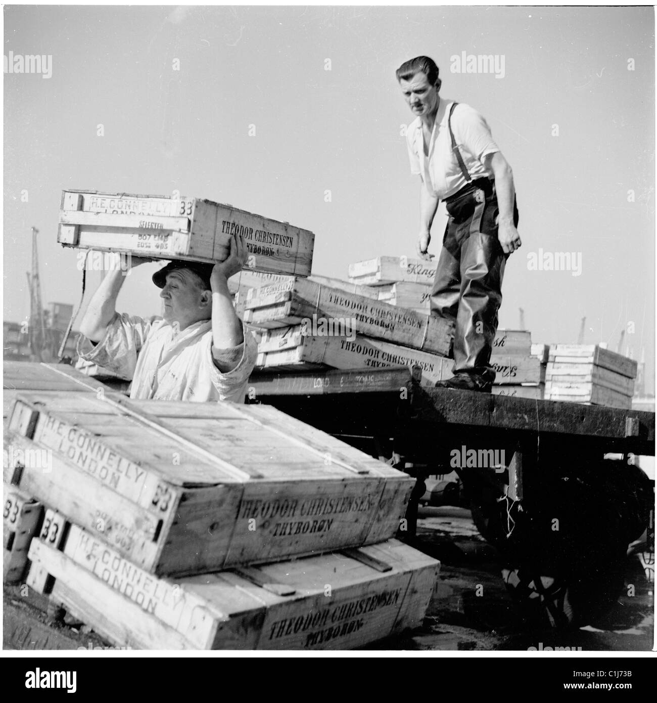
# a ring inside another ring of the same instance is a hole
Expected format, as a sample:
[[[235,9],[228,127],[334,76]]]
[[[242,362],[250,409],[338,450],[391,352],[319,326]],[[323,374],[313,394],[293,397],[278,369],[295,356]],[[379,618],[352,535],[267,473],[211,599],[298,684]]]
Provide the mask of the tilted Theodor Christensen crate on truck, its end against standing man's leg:
[[[342,325],[367,337],[446,356],[453,323],[382,303],[362,295],[290,277],[285,283],[249,291],[244,321],[263,328],[304,322]],[[313,317],[314,316],[314,317]]]

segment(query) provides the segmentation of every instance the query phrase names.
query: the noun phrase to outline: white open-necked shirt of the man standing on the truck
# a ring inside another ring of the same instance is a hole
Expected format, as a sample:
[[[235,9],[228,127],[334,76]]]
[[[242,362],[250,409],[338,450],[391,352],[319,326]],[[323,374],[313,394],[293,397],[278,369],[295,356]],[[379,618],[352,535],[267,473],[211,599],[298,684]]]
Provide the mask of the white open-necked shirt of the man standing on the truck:
[[[406,130],[410,172],[419,174],[429,193],[438,195],[441,200],[449,198],[450,195],[467,186],[467,180],[452,151],[447,124],[453,102],[449,98],[441,98],[434,130],[431,132],[431,141],[429,141],[428,157],[424,155],[421,118],[417,117],[413,120]],[[470,178],[474,181],[492,176],[493,172],[486,169],[483,160],[488,154],[494,154],[500,149],[493,141],[490,127],[483,116],[469,105],[459,103],[452,115],[452,131]]]

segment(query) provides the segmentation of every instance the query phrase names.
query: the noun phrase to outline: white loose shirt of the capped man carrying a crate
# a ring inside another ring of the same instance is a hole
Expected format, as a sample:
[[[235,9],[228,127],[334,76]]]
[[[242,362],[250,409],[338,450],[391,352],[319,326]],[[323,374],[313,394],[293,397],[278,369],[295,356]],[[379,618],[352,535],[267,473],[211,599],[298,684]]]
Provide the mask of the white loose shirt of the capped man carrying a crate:
[[[132,380],[134,399],[233,401],[243,403],[257,346],[244,329],[244,342],[223,351],[238,365],[221,373],[212,360],[212,322],[194,323],[176,334],[162,318],[143,319],[115,313],[105,337],[96,347],[80,335],[78,354],[85,361]]]

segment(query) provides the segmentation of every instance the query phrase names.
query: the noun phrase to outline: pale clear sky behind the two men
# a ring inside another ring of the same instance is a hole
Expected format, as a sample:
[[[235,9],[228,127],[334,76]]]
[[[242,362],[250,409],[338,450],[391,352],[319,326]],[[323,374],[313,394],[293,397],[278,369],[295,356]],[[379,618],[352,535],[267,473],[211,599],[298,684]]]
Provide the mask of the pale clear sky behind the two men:
[[[30,228],[44,305],[77,304],[57,243],[65,188],[227,202],[316,234],[313,273],[412,256],[419,177],[394,71],[427,55],[441,96],[479,110],[512,166],[523,246],[500,327],[606,342],[654,382],[655,75],[651,7],[5,6],[4,319],[29,313]],[[497,72],[455,57],[493,56]],[[45,67],[51,75],[45,77]],[[503,71],[502,71],[503,67]],[[99,127],[102,125],[102,129]],[[100,135],[102,132],[102,135]],[[439,210],[429,251],[439,254]],[[570,270],[534,266],[569,252]],[[117,307],[160,314],[156,264]],[[88,301],[98,283],[89,276]]]

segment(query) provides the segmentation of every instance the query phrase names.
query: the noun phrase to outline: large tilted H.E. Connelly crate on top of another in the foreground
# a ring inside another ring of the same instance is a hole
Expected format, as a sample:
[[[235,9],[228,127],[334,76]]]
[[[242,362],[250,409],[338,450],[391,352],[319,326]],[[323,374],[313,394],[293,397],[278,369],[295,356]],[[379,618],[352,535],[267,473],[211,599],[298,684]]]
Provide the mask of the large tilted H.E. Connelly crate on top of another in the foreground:
[[[50,472],[18,472],[23,491],[157,574],[382,541],[413,485],[268,406],[21,394],[8,426],[51,451]]]

